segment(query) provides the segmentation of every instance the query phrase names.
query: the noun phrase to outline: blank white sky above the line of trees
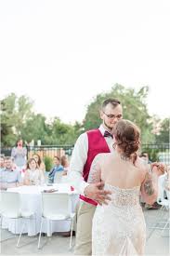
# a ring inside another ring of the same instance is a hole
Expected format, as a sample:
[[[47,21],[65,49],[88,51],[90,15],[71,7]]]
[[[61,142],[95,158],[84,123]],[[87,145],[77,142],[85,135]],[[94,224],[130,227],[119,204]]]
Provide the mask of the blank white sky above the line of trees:
[[[169,13],[169,0],[1,0],[0,98],[73,123],[116,83],[149,86],[150,115],[170,116]]]

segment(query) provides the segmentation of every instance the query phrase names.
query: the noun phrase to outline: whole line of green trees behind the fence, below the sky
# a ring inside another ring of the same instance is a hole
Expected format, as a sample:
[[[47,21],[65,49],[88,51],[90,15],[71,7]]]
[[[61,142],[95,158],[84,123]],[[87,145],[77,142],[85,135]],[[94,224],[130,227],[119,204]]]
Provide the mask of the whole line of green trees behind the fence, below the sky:
[[[124,88],[116,84],[110,92],[98,94],[87,106],[84,122],[69,125],[59,117],[46,121],[46,116],[33,113],[33,101],[26,96],[17,97],[14,93],[1,101],[1,143],[2,147],[12,146],[19,139],[42,141],[43,144],[74,144],[77,137],[90,128],[98,128],[101,123],[98,110],[102,101],[117,98],[122,102],[124,118],[137,124],[141,129],[142,143],[169,141],[169,119],[163,122],[148,114],[146,99],[148,87],[139,90]],[[160,134],[155,137],[155,124],[161,124]]]

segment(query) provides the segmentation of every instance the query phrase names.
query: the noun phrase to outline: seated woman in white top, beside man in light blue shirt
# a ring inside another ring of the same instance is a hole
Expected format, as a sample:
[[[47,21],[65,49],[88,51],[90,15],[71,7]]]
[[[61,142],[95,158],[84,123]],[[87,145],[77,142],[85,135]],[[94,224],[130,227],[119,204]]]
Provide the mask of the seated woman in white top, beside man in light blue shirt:
[[[27,163],[23,184],[24,185],[43,185],[45,177],[34,158],[30,158]]]

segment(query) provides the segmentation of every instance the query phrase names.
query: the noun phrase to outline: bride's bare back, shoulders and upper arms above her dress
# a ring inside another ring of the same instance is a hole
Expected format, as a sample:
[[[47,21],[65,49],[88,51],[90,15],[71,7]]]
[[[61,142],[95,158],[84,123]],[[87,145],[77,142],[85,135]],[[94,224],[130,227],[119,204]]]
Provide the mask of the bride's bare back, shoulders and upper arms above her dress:
[[[132,160],[122,159],[116,151],[98,154],[90,168],[88,183],[100,181],[124,189],[139,186],[148,204],[155,202],[157,196],[157,177],[150,175],[149,169],[139,157],[133,163]]]

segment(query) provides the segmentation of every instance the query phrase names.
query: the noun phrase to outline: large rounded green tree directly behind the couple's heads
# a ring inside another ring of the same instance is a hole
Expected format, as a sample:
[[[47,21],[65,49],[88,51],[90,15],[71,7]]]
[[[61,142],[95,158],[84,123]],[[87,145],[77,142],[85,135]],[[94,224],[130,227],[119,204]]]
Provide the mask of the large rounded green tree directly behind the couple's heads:
[[[116,84],[108,93],[98,94],[95,99],[88,105],[84,120],[85,130],[98,128],[101,120],[98,115],[102,101],[107,98],[116,98],[122,102],[124,110],[124,119],[129,119],[137,124],[141,129],[142,143],[149,143],[153,140],[152,121],[148,114],[146,99],[149,88],[142,87],[138,91],[134,88],[124,88]]]

